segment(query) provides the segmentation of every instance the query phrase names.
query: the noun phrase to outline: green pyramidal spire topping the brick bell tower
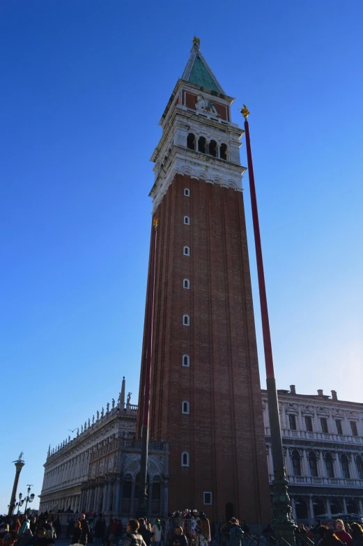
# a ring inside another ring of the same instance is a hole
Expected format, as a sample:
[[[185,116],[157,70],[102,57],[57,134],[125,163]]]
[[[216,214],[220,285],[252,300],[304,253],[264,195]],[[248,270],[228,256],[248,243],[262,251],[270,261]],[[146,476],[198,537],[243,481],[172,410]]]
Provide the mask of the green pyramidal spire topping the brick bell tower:
[[[194,36],[192,51],[190,52],[189,61],[183,72],[182,79],[190,81],[191,84],[203,86],[211,91],[225,94],[221,84],[219,84],[212,70],[210,70],[206,59],[201,54],[199,45],[199,38]]]

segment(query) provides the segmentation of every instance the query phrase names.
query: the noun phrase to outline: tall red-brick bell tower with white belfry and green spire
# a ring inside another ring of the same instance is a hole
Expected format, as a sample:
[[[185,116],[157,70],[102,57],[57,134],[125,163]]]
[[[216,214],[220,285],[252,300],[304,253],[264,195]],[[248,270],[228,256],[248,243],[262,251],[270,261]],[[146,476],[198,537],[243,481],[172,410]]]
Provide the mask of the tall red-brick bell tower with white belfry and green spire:
[[[169,442],[169,510],[270,520],[240,137],[194,38],[155,163],[150,439]],[[151,263],[151,260],[150,260]],[[150,279],[150,265],[149,265]],[[149,283],[148,283],[149,284]],[[144,402],[146,324],[138,434]]]

